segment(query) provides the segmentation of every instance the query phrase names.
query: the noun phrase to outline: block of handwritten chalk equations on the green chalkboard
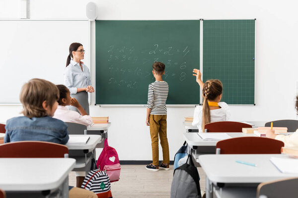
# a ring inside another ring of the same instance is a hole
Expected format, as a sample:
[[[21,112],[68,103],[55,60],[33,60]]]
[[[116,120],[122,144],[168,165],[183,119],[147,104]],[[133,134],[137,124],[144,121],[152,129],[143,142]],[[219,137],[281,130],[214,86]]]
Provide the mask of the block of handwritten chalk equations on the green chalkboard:
[[[187,68],[185,56],[189,55],[189,52],[190,48],[188,46],[178,49],[174,46],[161,47],[159,44],[154,44],[147,49],[136,49],[134,46],[117,47],[111,45],[107,49],[108,71],[110,74],[108,84],[136,89],[141,81],[126,79],[130,78],[129,76],[137,76],[154,80],[149,65],[155,61],[165,64],[164,80],[172,79],[183,82],[186,79],[184,70]],[[146,56],[145,54],[148,55]],[[141,58],[140,55],[142,56]],[[119,77],[119,75],[122,77]]]

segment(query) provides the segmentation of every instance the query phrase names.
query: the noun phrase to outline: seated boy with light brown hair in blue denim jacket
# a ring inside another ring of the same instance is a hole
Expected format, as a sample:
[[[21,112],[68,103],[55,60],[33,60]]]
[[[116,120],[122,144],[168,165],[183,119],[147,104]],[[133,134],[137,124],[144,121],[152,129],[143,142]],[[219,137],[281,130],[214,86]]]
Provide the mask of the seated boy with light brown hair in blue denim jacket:
[[[31,79],[23,85],[20,101],[24,116],[7,120],[4,142],[44,141],[65,145],[69,140],[67,125],[52,118],[58,99],[59,90],[49,81]],[[75,187],[70,187],[69,197],[97,198],[93,192]]]

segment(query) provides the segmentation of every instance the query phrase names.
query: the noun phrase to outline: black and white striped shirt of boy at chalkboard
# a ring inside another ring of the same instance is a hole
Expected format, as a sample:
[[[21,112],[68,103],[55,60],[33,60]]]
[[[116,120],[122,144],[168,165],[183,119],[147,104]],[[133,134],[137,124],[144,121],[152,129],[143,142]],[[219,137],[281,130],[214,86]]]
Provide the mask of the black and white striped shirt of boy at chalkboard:
[[[150,108],[150,114],[166,115],[165,101],[169,92],[169,86],[165,81],[155,81],[148,88],[147,108]]]

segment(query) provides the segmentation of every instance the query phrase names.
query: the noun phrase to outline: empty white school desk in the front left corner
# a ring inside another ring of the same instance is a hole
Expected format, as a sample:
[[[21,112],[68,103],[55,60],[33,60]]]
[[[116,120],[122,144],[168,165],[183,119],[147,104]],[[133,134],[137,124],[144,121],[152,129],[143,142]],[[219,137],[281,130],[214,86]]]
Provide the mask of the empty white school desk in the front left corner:
[[[68,198],[68,175],[73,158],[0,158],[0,189],[10,198],[44,197],[40,192],[59,190]]]

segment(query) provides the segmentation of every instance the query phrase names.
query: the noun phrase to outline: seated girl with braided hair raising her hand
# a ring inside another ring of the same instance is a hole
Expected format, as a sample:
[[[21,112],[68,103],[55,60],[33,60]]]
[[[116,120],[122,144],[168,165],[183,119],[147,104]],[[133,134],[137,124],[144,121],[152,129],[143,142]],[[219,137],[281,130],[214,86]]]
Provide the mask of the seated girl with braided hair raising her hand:
[[[197,126],[199,132],[204,132],[205,124],[210,122],[228,121],[230,110],[225,102],[220,102],[223,96],[223,84],[220,80],[208,80],[205,83],[201,80],[201,72],[194,69],[193,74],[196,81],[202,88],[203,106],[197,106],[194,112],[193,126]]]

